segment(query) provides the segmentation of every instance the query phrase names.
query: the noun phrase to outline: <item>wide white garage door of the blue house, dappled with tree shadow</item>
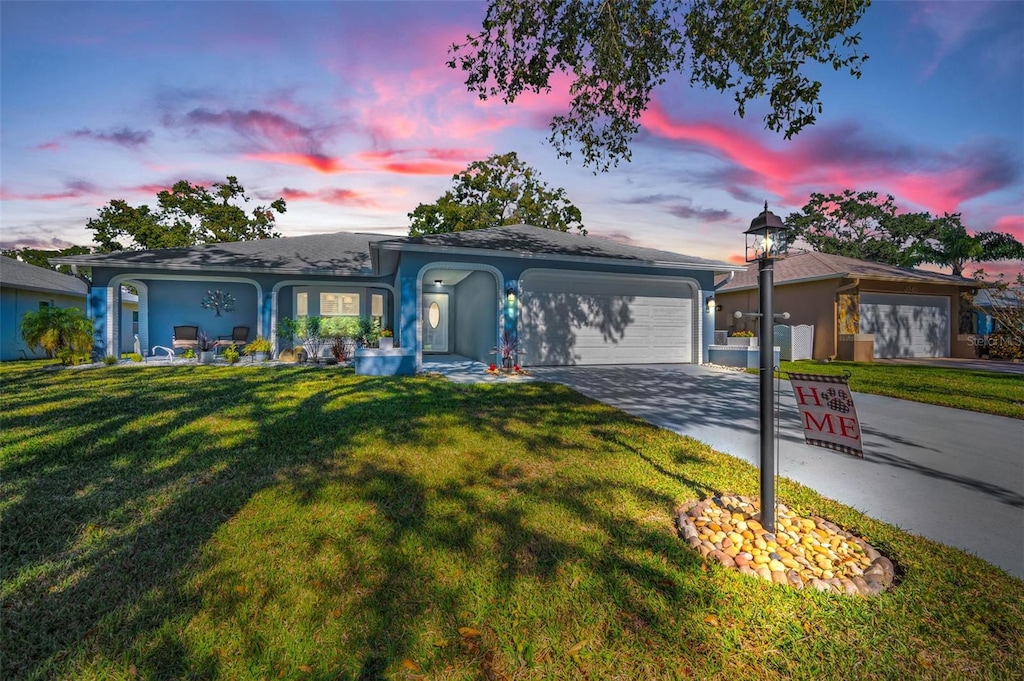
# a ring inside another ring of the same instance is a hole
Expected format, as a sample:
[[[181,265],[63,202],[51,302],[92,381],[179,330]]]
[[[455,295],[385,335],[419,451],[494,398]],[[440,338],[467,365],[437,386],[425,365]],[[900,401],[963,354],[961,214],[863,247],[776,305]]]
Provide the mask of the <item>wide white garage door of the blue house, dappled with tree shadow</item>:
[[[663,276],[530,269],[520,280],[527,366],[698,360],[692,289]]]

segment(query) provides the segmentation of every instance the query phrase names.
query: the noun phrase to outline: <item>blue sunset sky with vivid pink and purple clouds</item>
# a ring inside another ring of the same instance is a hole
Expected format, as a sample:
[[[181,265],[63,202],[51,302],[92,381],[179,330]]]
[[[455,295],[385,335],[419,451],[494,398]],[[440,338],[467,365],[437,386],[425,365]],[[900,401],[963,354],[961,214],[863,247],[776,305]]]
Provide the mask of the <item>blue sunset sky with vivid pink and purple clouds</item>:
[[[0,244],[87,245],[111,199],[237,175],[288,201],[284,236],[408,232],[453,173],[515,151],[594,236],[735,259],[764,201],[876,189],[1024,240],[1024,3],[876,2],[854,80],[816,72],[818,123],[792,140],[685,76],[655,91],[633,161],[594,173],[546,143],[564,91],[469,94],[447,47],[478,2],[0,4]],[[1019,265],[1018,265],[1019,268]]]

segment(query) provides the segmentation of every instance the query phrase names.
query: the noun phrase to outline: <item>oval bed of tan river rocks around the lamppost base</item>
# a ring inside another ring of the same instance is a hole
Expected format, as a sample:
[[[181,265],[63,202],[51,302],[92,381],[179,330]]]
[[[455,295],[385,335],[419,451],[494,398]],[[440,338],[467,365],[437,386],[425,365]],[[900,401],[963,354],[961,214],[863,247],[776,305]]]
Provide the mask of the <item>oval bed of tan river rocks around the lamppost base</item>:
[[[864,540],[778,504],[775,533],[746,497],[690,501],[679,509],[682,538],[701,556],[766,582],[849,596],[877,596],[893,583],[892,562]]]

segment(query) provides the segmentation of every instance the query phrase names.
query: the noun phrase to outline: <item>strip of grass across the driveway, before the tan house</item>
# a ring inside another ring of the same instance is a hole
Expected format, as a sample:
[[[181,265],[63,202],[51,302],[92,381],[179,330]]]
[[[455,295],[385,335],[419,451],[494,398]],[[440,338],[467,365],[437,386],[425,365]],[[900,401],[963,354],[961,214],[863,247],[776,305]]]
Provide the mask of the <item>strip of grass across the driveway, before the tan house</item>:
[[[857,392],[1024,419],[1024,376],[1020,374],[865,361],[825,365],[810,359],[782,361],[779,369],[805,374],[848,370],[852,374],[850,388]]]

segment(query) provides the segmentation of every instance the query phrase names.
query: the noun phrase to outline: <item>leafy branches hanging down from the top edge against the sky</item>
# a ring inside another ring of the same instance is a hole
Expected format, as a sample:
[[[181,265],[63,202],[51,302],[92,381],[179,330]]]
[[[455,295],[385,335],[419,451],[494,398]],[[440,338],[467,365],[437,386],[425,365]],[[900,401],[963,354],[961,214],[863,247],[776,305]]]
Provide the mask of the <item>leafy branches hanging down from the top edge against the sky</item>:
[[[860,77],[867,56],[853,29],[869,0],[490,0],[479,32],[450,48],[449,67],[481,99],[506,103],[550,92],[566,74],[569,111],[551,121],[552,144],[585,165],[629,161],[651,92],[674,72],[731,92],[742,117],[768,98],[765,126],[788,138],[821,113],[815,65]]]

